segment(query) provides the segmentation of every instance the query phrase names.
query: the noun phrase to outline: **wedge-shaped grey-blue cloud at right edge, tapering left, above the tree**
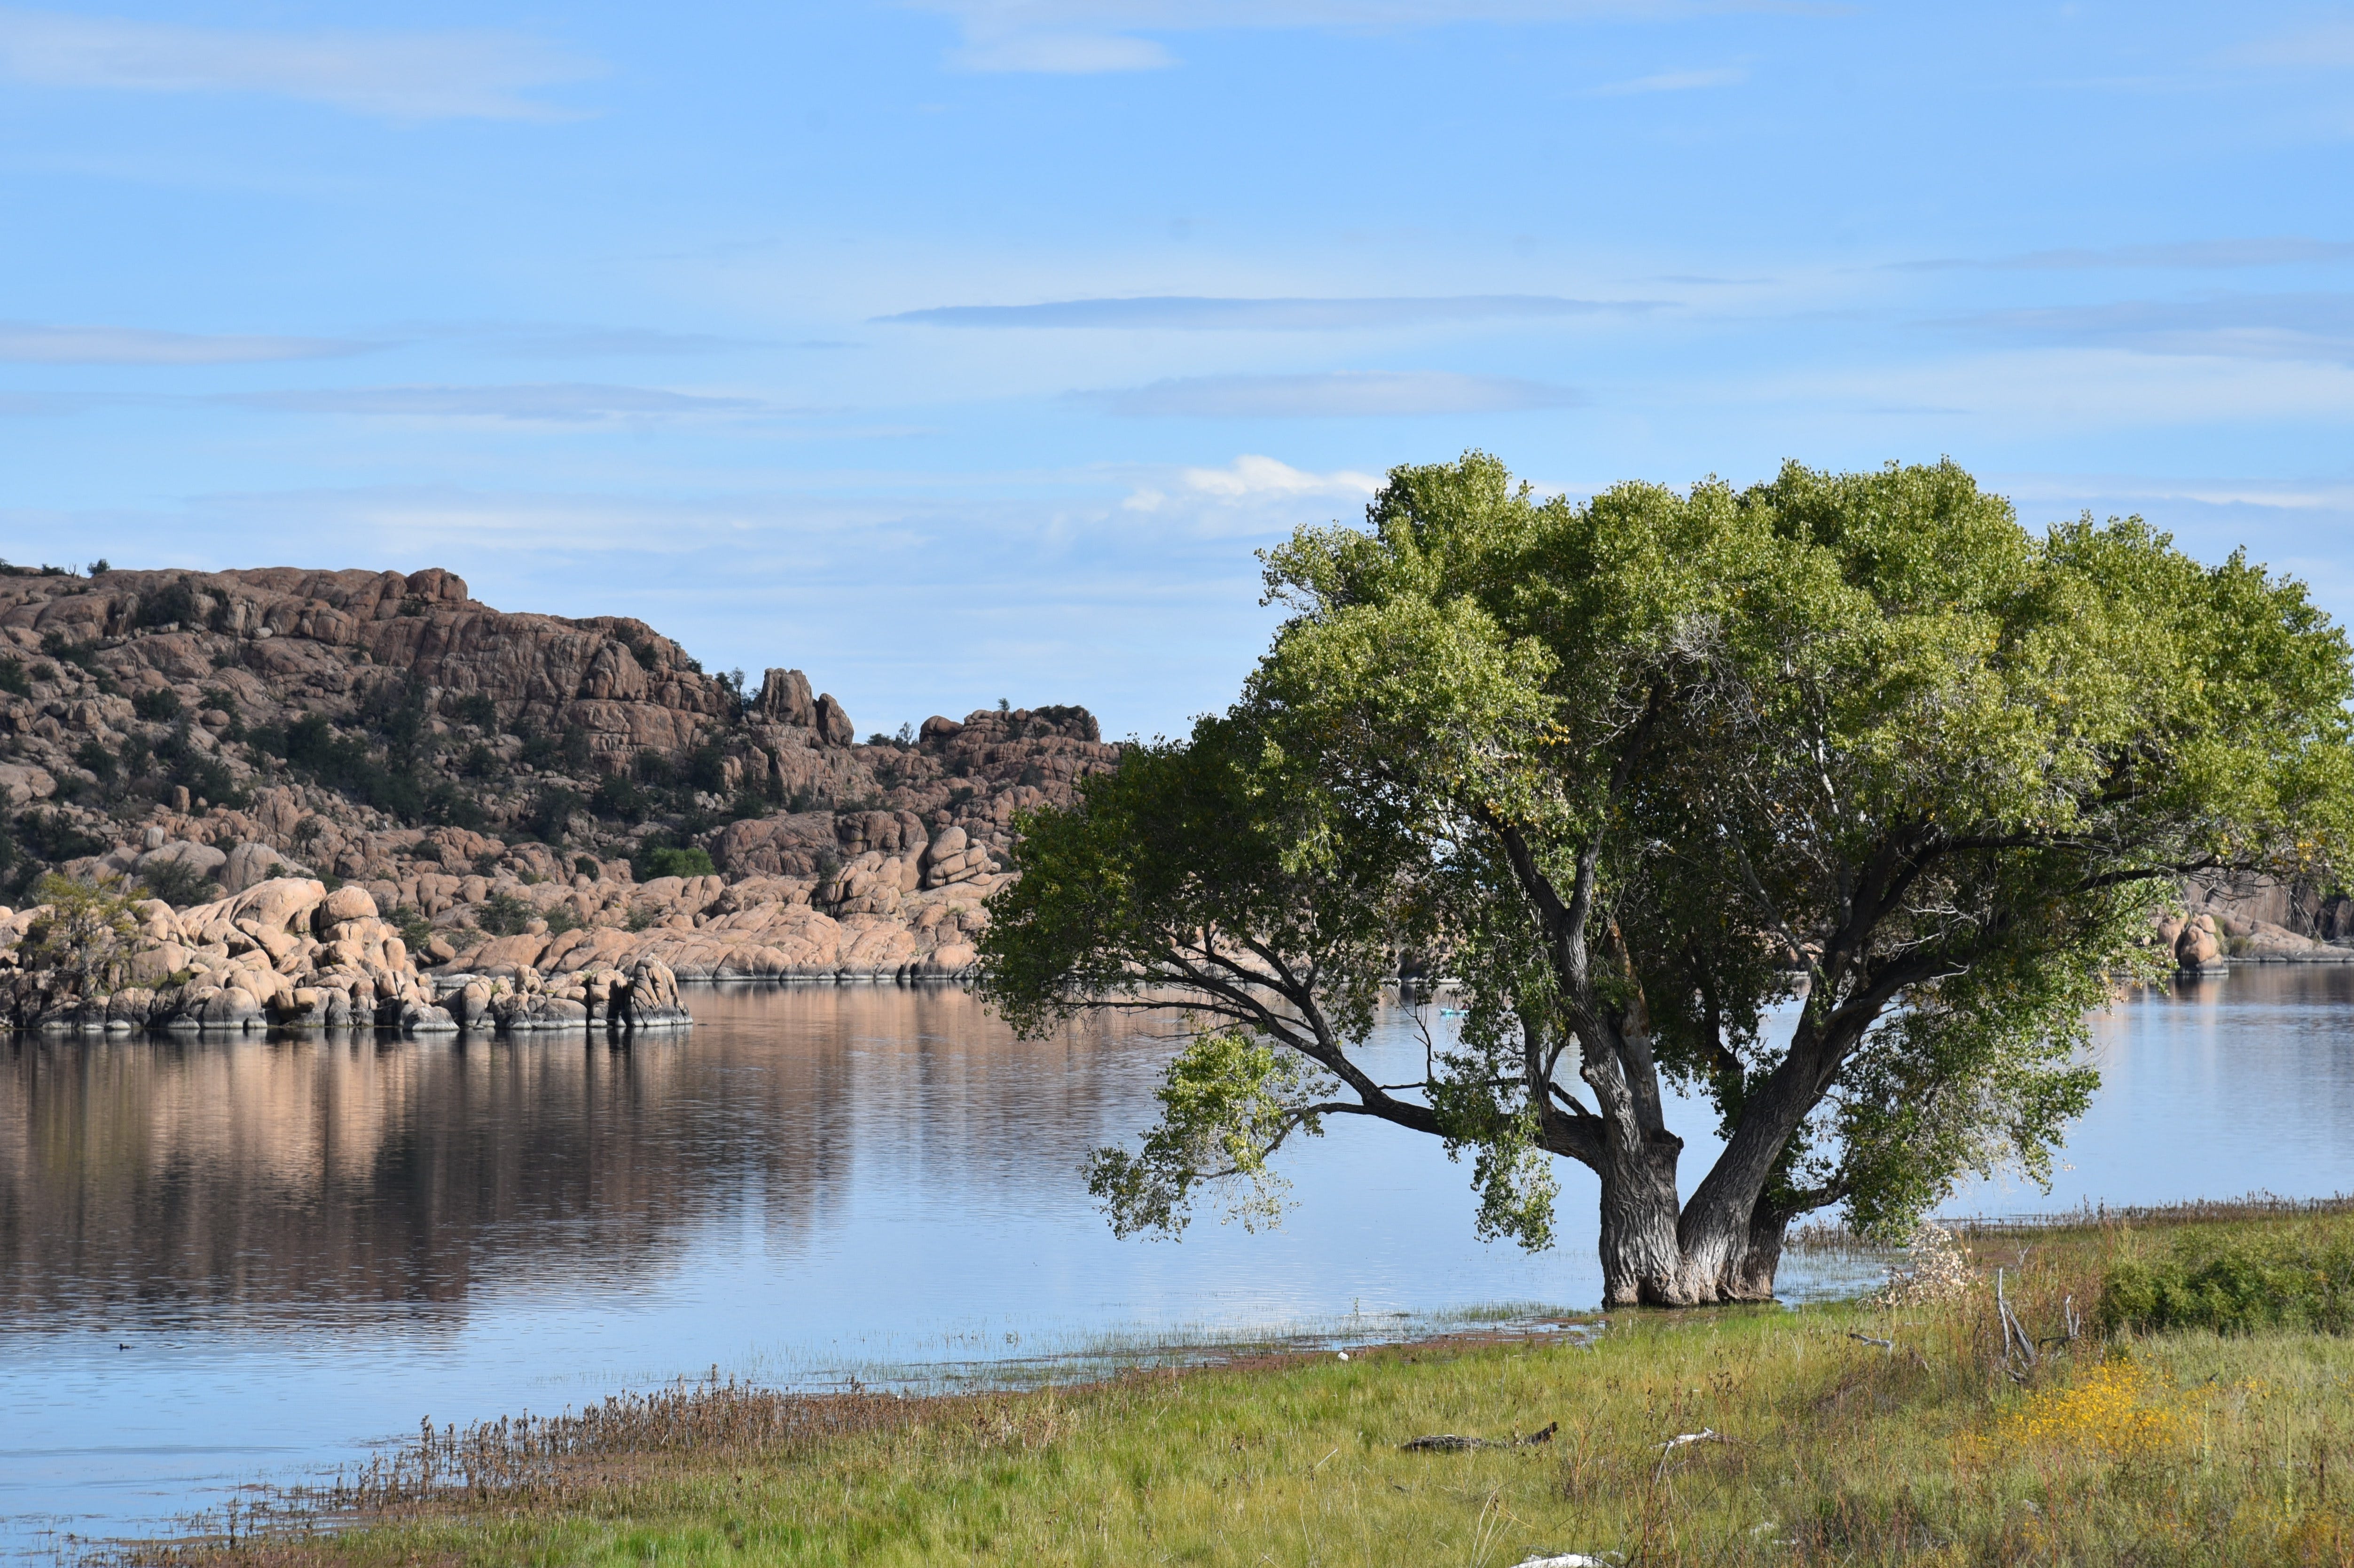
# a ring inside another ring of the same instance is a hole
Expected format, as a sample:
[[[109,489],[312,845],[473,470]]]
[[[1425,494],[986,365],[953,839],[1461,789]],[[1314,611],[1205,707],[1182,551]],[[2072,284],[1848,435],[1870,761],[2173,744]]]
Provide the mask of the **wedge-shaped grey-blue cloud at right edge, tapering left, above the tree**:
[[[2217,294],[1984,311],[1949,327],[2137,353],[2354,363],[2354,294]]]

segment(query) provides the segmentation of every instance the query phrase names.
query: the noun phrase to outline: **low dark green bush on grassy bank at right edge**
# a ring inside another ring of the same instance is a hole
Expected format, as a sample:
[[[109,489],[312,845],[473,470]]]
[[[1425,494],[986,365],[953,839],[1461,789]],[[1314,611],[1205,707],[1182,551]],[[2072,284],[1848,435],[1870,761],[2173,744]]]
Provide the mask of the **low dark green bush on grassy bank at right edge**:
[[[2354,1224],[2192,1231],[2102,1276],[2102,1328],[2354,1328]]]

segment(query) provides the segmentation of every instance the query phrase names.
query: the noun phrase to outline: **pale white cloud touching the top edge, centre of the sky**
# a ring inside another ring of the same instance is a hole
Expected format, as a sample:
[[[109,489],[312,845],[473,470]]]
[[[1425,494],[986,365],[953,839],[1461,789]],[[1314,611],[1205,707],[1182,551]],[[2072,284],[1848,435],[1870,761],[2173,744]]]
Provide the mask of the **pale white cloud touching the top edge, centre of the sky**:
[[[1149,33],[1212,28],[1429,28],[1464,21],[1678,16],[1695,0],[909,0],[953,16],[965,71],[1153,71],[1177,64]]]

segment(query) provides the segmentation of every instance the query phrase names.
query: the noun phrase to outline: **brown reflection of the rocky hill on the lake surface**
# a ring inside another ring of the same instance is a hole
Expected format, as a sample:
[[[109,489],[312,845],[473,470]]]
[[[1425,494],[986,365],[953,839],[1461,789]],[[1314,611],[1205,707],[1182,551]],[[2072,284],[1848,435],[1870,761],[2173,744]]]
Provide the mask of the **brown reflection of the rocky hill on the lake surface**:
[[[0,1326],[626,1283],[699,1217],[791,1238],[850,1161],[937,1203],[1076,1184],[1149,1045],[1022,1043],[963,991],[692,991],[685,1038],[0,1045]]]

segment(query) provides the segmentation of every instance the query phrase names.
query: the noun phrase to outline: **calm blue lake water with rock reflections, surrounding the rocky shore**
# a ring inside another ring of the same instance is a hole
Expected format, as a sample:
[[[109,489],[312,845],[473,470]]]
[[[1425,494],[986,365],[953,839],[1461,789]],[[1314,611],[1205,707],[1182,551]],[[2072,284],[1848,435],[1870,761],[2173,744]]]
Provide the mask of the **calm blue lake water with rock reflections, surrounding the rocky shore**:
[[[1471,1236],[1469,1168],[1349,1118],[1288,1151],[1283,1229],[1113,1241],[1076,1168],[1151,1118],[1137,1019],[1024,1043],[949,989],[687,1001],[629,1050],[0,1043],[0,1554],[711,1368],[953,1377],[1601,1290],[1589,1177],[1528,1257]],[[2187,982],[2097,1038],[2055,1191],[1956,1212],[2354,1189],[2354,972]],[[1419,1071],[1403,1015],[1382,1041]]]

